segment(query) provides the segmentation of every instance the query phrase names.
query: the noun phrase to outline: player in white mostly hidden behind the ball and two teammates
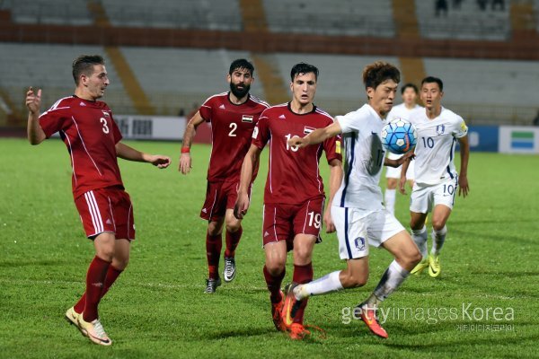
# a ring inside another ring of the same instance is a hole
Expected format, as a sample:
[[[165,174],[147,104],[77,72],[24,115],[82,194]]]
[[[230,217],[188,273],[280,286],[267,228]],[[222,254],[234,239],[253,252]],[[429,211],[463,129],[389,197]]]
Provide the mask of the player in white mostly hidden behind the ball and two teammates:
[[[417,104],[418,98],[418,87],[413,83],[406,83],[401,88],[402,103],[397,106],[393,106],[393,109],[387,114],[387,120],[393,121],[396,118],[409,119],[411,111],[414,109],[420,108],[420,105]],[[387,152],[387,157],[390,160],[398,160],[402,155],[394,154]],[[408,171],[406,172],[406,180],[410,184],[410,187],[413,187],[413,165],[415,162],[410,162]],[[397,192],[397,185],[399,180],[401,180],[401,167],[393,168],[387,167],[385,169],[385,178],[387,183],[385,185],[384,193],[384,205],[385,208],[391,212],[392,215],[395,214],[395,195]]]

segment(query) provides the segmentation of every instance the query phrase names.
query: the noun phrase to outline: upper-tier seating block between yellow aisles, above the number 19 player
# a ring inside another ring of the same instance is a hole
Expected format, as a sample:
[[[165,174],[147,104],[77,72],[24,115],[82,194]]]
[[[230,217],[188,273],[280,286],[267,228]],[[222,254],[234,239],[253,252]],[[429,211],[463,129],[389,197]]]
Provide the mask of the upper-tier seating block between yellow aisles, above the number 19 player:
[[[320,35],[395,34],[391,0],[264,0],[270,31]],[[367,11],[368,9],[368,11]]]

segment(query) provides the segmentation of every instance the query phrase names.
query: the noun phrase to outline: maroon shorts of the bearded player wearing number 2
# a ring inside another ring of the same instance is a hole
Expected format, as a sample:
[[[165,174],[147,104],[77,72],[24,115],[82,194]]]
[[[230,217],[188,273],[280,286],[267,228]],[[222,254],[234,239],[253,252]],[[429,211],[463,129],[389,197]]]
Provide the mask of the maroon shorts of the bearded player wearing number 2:
[[[234,209],[239,187],[239,181],[208,182],[206,201],[200,210],[200,218],[207,221],[218,221],[223,218],[227,209]],[[251,197],[251,188],[249,188],[249,197]]]

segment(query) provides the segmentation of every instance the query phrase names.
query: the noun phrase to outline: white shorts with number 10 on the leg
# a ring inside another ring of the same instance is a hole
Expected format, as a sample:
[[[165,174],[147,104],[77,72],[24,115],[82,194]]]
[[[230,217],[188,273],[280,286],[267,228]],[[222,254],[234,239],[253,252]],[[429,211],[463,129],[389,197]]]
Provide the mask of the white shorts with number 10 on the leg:
[[[455,195],[458,190],[458,178],[447,179],[437,185],[415,183],[411,190],[410,210],[415,213],[426,214],[437,205],[448,206],[453,209]]]

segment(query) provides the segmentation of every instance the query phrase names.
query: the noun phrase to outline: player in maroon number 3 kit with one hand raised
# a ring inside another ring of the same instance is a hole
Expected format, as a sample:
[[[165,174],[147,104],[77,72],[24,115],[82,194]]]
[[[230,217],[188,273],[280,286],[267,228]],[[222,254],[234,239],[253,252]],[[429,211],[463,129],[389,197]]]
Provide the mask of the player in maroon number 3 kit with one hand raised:
[[[149,162],[166,168],[170,158],[141,153],[127,144],[101,98],[109,78],[100,56],[81,56],[73,62],[75,95],[58,100],[40,115],[41,90],[26,93],[28,139],[40,144],[56,132],[67,146],[73,169],[73,196],[95,257],[86,273],[82,298],[66,311],[93,343],[110,346],[98,316],[98,304],[110,285],[128,266],[130,242],[135,240],[133,207],[119,174],[118,160]]]

